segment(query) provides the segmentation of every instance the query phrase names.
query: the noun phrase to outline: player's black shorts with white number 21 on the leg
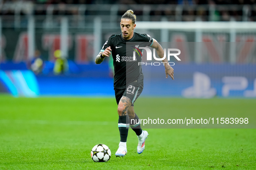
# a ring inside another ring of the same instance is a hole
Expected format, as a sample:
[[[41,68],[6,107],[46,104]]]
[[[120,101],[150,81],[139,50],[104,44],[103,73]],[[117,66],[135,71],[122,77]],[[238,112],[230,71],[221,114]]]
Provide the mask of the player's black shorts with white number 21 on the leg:
[[[134,102],[143,91],[143,83],[139,83],[135,81],[128,84],[126,88],[123,88],[123,89],[114,88],[114,90],[115,90],[117,104],[119,104],[119,101],[123,96],[126,96],[131,99],[132,106],[133,106]]]

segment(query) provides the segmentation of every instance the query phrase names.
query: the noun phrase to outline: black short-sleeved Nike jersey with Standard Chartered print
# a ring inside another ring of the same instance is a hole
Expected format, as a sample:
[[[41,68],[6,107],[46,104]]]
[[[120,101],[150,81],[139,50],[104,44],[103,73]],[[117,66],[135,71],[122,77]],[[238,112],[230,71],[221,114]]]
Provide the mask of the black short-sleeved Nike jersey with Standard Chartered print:
[[[108,38],[100,51],[103,52],[107,47],[110,47],[112,50],[114,88],[123,89],[130,82],[139,79],[143,81],[142,68],[141,65],[139,66],[143,50],[139,49],[139,47],[151,46],[152,43],[153,39],[151,36],[136,32],[134,32],[133,38],[130,40],[123,39],[122,34],[111,35]]]

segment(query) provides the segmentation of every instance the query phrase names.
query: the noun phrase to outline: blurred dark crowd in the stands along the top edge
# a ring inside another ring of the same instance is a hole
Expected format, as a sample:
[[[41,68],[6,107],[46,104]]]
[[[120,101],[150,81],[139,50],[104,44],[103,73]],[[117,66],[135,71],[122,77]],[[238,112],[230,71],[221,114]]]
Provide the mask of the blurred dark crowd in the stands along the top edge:
[[[21,15],[29,13],[45,15],[47,6],[51,4],[57,6],[52,12],[53,15],[73,16],[105,15],[105,10],[92,11],[90,8],[84,10],[84,13],[79,13],[78,4],[126,5],[118,9],[117,14],[121,16],[128,8],[134,9],[133,6],[148,4],[151,5],[147,14],[150,16],[149,21],[158,21],[162,16],[166,16],[169,21],[196,21],[198,18],[202,21],[230,21],[231,19],[256,21],[256,0],[0,0],[0,15],[15,14],[16,6],[7,9],[4,8],[6,4],[20,4]],[[34,4],[45,6],[33,9]],[[77,4],[77,6],[69,6],[69,4]],[[152,5],[156,6],[152,7]],[[181,7],[177,9],[177,5]],[[135,9],[136,15],[144,15],[143,10],[143,8]]]

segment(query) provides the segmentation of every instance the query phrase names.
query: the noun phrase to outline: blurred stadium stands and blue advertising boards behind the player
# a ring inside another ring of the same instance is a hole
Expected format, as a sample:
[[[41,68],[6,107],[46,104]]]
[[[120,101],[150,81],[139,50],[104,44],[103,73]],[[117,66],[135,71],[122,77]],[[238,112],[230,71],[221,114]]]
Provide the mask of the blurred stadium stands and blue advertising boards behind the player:
[[[113,96],[111,61],[94,59],[127,9],[135,31],[181,50],[172,89],[146,67],[143,95],[256,97],[255,0],[3,0],[0,93]]]

